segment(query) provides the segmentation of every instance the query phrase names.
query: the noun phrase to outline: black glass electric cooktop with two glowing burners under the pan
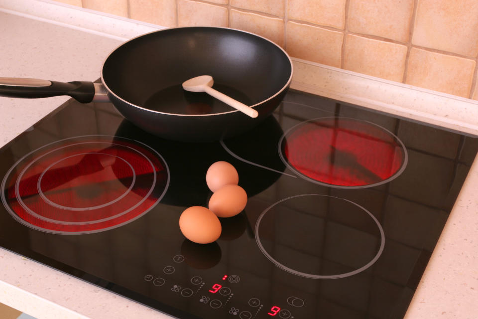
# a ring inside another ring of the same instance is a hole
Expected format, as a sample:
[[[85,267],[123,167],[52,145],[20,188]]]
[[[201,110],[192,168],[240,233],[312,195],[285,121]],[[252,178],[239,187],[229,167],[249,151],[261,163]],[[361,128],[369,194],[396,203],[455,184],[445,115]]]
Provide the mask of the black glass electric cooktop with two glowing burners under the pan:
[[[477,150],[293,90],[251,131],[198,144],[70,100],[0,150],[0,245],[180,319],[402,318]],[[195,244],[179,216],[207,207],[218,160],[248,202]]]

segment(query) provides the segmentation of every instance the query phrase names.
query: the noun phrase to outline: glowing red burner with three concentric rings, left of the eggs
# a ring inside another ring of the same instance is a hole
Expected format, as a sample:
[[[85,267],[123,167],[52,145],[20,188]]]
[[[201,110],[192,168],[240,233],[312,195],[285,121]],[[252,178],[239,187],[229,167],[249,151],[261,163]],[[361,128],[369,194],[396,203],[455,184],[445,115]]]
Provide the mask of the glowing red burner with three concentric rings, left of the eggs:
[[[20,159],[2,201],[28,227],[62,234],[104,231],[149,211],[169,184],[161,156],[139,142],[88,136],[46,145]]]

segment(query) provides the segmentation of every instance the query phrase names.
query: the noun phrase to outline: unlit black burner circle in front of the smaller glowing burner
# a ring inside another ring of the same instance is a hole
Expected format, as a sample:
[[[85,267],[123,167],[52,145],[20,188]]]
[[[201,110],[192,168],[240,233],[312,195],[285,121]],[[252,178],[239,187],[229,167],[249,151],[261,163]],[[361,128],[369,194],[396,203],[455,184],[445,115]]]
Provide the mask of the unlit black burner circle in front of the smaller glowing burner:
[[[301,194],[282,199],[258,217],[255,240],[278,268],[306,278],[345,278],[373,265],[385,234],[362,206],[334,196]]]

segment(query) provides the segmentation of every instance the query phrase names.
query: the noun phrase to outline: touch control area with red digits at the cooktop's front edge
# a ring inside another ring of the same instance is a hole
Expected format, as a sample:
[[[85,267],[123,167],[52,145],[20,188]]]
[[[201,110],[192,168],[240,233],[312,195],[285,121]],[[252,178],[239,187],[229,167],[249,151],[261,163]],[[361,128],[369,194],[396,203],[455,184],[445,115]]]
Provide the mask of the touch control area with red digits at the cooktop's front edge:
[[[181,307],[187,305],[192,313],[205,314],[207,318],[307,318],[306,301],[298,290],[275,297],[277,291],[273,287],[261,289],[260,280],[254,282],[244,274],[213,274],[213,269],[190,269],[184,260],[177,254],[169,265],[144,275],[150,289],[157,290],[155,293],[165,302],[177,300]],[[188,301],[184,303],[185,300]]]

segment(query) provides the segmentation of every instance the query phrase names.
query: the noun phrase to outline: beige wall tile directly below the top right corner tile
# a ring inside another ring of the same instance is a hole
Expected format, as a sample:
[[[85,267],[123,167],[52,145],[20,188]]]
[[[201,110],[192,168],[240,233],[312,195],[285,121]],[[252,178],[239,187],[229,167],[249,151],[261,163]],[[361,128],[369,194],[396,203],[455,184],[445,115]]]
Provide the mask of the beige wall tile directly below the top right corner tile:
[[[406,83],[468,98],[476,62],[412,48]]]

